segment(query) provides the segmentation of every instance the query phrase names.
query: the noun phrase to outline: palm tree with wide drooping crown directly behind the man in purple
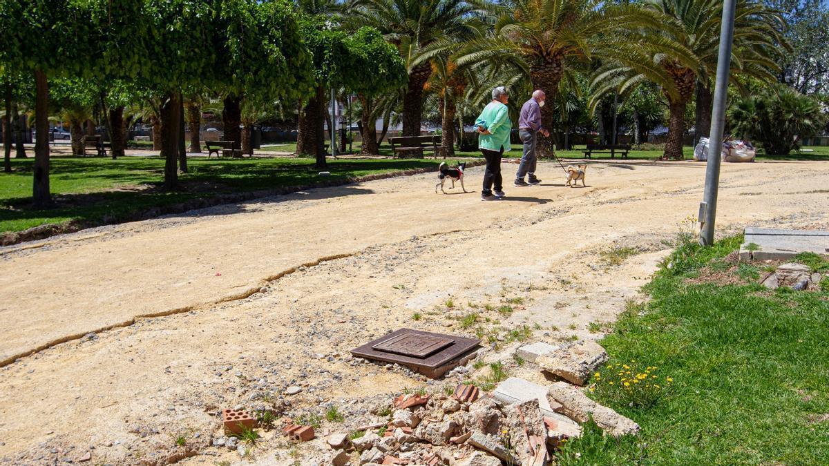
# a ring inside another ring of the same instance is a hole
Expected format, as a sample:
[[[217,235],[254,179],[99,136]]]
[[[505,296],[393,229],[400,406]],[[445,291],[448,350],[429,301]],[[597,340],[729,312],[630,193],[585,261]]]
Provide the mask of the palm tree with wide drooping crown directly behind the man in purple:
[[[567,68],[586,66],[591,58],[611,56],[617,31],[660,26],[651,12],[636,5],[605,6],[604,0],[507,0],[487,7],[491,36],[468,43],[461,66],[482,61],[513,61],[529,75],[532,87],[555,96]],[[517,96],[515,96],[517,97]],[[551,128],[555,109],[541,109],[542,124]],[[552,139],[539,141],[541,155]]]

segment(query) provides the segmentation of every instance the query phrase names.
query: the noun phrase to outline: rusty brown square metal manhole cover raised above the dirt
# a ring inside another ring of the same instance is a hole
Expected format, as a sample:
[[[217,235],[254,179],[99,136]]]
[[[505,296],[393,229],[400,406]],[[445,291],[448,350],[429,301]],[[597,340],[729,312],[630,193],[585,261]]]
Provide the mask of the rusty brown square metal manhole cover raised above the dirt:
[[[464,364],[478,350],[480,340],[401,328],[351,350],[355,357],[393,362],[437,379]]]

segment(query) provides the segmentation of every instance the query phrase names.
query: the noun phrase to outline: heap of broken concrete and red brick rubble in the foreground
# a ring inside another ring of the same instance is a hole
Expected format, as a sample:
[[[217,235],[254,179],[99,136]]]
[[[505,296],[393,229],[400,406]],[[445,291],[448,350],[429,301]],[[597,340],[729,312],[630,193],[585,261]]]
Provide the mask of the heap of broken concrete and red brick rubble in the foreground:
[[[518,353],[564,381],[541,386],[511,377],[491,394],[460,384],[454,391],[398,396],[390,400],[390,410],[375,410],[381,421],[361,426],[359,434],[325,435],[318,446],[327,451],[317,450],[302,464],[543,466],[563,441],[581,434],[580,424],[589,418],[613,436],[638,432],[636,423],[597,404],[578,386],[608,359],[595,342],[536,343]],[[298,441],[316,437],[311,426],[290,420],[280,427]]]

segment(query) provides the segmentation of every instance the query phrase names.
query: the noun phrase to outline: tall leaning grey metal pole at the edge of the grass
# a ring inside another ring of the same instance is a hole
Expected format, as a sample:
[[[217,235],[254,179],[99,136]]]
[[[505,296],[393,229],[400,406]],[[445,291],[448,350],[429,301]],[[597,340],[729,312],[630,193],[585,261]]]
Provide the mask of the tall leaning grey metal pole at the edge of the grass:
[[[734,40],[735,0],[725,0],[720,27],[720,57],[717,60],[717,80],[714,90],[714,108],[711,110],[711,132],[708,139],[708,163],[705,166],[705,193],[700,204],[700,244],[714,244],[714,221],[717,211],[717,190],[720,187],[720,161],[725,129],[725,100],[731,64],[731,42]],[[713,143],[712,143],[713,142]]]

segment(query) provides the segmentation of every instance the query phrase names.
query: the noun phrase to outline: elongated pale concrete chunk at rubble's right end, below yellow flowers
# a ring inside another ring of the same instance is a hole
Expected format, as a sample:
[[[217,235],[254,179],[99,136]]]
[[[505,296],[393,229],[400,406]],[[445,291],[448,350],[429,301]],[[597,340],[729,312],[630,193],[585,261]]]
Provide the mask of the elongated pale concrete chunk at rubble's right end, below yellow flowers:
[[[549,395],[560,403],[560,413],[579,423],[587,422],[592,415],[596,425],[614,437],[637,434],[639,431],[639,425],[633,420],[607,406],[599,405],[584,395],[584,392],[565,382],[555,382],[550,386]]]

